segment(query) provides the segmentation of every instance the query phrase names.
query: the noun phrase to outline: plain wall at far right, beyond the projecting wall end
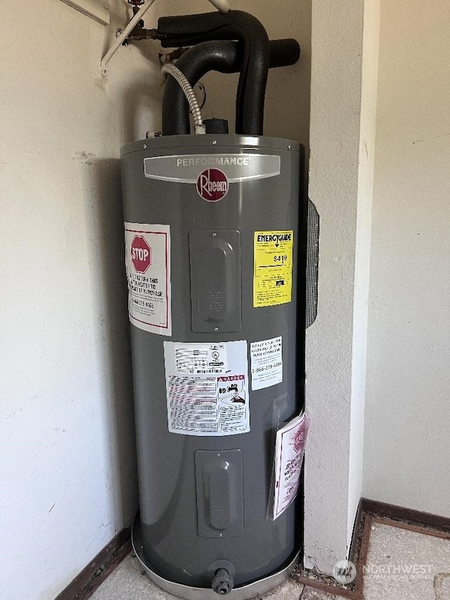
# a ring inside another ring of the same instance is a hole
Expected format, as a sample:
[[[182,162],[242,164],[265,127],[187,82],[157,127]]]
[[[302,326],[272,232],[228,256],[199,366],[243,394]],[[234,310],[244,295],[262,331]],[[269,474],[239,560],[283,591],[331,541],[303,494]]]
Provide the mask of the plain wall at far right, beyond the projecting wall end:
[[[450,513],[450,5],[382,0],[364,495]]]

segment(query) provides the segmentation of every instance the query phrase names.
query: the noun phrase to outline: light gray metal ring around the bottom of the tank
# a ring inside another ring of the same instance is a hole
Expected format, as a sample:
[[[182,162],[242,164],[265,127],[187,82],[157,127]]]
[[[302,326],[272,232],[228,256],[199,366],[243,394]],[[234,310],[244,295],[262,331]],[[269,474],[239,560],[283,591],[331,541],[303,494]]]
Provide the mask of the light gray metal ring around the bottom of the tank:
[[[151,570],[145,562],[145,558],[143,556],[143,546],[141,544],[141,521],[139,516],[136,517],[133,523],[133,528],[131,530],[131,543],[133,544],[134,552],[141,563],[143,570],[145,570],[146,575],[150,577],[150,579],[158,585],[158,587],[164,589],[169,594],[174,594],[174,596],[179,596],[179,598],[184,598],[186,600],[217,600],[219,598],[219,594],[214,592],[210,588],[206,587],[191,587],[188,585],[182,585],[181,583],[174,583],[173,581],[168,581],[164,579],[164,577],[160,577],[156,573]],[[278,571],[277,573],[273,573],[269,575],[269,577],[264,577],[263,579],[259,579],[255,582],[249,583],[248,585],[238,586],[226,594],[229,600],[249,600],[250,598],[255,598],[255,596],[259,596],[260,594],[265,594],[269,592],[274,587],[277,587],[283,581],[287,580],[290,573],[293,572],[295,566],[297,565],[300,558],[300,552],[295,556],[293,561],[291,561],[287,567]]]

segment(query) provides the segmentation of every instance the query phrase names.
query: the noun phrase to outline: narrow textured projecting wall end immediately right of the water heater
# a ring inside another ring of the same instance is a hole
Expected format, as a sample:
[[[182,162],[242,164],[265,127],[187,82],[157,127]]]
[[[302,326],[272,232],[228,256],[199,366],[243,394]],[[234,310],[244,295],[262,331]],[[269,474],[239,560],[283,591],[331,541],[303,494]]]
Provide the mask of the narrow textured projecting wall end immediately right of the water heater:
[[[347,557],[362,485],[378,0],[313,0],[309,196],[321,215],[307,330],[305,566]]]

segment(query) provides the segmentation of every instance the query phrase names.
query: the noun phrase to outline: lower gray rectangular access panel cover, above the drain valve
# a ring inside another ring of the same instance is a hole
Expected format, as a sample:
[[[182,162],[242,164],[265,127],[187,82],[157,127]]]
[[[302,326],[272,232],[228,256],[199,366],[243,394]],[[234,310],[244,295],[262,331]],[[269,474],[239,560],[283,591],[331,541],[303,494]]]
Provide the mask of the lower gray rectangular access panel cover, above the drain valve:
[[[243,452],[195,452],[197,523],[200,537],[233,537],[243,533]]]

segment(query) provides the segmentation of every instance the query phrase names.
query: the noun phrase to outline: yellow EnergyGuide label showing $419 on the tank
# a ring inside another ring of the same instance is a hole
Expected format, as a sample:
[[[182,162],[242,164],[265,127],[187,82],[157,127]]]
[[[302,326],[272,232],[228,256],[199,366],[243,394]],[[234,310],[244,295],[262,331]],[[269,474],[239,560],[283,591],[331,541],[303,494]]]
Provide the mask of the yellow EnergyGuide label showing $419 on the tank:
[[[292,300],[294,232],[255,231],[253,306],[275,306]]]

